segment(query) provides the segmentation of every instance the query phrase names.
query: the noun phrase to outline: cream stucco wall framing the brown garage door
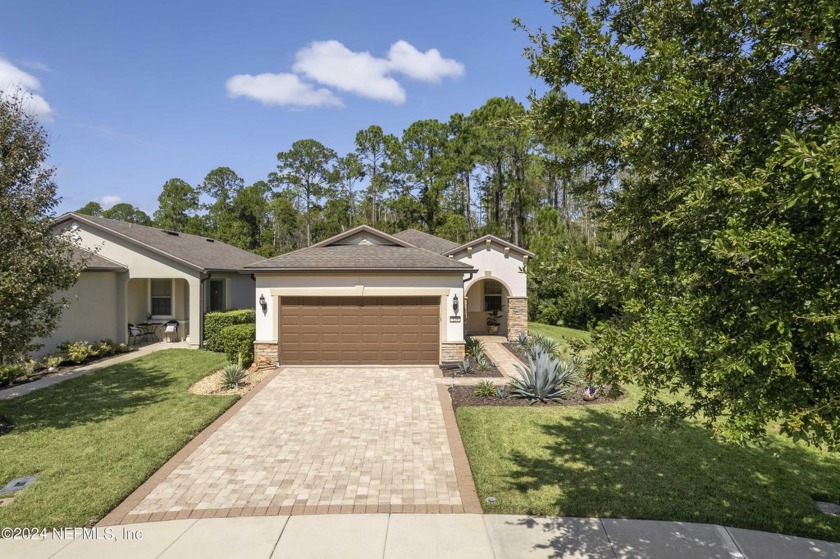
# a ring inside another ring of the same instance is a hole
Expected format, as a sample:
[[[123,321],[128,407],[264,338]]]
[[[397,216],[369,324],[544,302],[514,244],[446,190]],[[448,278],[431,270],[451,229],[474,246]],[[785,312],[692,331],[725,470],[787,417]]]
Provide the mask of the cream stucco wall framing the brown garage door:
[[[261,295],[268,303],[265,313],[259,305]],[[251,303],[257,311],[257,343],[277,342],[277,309],[281,295],[440,295],[441,343],[464,341],[463,322],[449,322],[456,295],[460,301],[458,316],[463,321],[461,274],[257,274]]]

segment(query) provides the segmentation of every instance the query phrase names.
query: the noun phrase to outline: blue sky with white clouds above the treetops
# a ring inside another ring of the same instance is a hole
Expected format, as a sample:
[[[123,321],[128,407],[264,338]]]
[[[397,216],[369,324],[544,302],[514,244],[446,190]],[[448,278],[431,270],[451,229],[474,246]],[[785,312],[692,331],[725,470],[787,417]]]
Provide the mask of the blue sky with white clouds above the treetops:
[[[163,183],[228,166],[247,183],[315,138],[340,154],[540,82],[522,49],[539,0],[4,3],[0,88],[37,97],[62,203],[151,213]],[[435,49],[435,50],[432,50]],[[369,53],[369,54],[365,54]]]

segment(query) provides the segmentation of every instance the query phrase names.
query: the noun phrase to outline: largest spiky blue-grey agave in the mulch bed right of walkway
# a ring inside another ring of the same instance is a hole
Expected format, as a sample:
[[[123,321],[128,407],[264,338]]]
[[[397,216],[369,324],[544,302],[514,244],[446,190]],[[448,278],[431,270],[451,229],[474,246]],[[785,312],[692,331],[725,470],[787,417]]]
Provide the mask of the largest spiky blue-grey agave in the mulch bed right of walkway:
[[[522,376],[510,379],[510,395],[535,402],[558,402],[569,397],[577,376],[571,361],[561,361],[547,351],[538,349],[528,355],[528,366],[514,365]]]

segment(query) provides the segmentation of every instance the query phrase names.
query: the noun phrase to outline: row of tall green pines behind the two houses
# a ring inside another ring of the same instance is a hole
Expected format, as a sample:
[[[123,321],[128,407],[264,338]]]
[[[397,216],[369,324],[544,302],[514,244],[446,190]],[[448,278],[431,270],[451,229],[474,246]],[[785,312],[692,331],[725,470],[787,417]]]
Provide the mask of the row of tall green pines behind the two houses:
[[[570,165],[569,147],[540,138],[512,97],[446,122],[419,120],[399,136],[373,125],[354,143],[339,154],[314,139],[296,141],[250,185],[228,167],[196,185],[172,178],[153,216],[128,203],[103,209],[90,202],[78,211],[211,236],[265,256],[360,224],[456,242],[492,233],[527,247],[541,207],[566,223],[591,222],[587,199],[571,188],[580,171]]]

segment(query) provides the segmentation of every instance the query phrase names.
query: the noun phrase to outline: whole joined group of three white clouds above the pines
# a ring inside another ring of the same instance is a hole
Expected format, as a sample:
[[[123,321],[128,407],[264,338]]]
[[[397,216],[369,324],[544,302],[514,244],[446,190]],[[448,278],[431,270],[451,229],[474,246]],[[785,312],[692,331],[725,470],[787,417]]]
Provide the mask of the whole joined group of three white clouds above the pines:
[[[295,54],[291,73],[240,74],[227,80],[230,97],[251,97],[266,105],[303,107],[340,106],[341,99],[330,88],[394,104],[405,102],[405,89],[395,75],[428,83],[457,78],[464,65],[444,58],[437,49],[422,52],[407,41],[392,44],[385,57],[356,52],[339,41],[313,41]],[[305,81],[301,77],[306,78]]]

